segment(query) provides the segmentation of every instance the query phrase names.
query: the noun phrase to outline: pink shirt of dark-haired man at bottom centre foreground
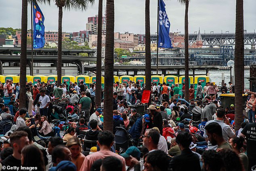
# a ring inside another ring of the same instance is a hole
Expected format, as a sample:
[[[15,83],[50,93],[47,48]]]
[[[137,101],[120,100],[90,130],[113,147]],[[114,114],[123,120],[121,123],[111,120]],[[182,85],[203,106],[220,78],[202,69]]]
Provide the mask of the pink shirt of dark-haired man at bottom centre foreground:
[[[94,163],[94,161],[97,161],[98,159],[104,159],[105,157],[109,157],[109,156],[113,156],[113,157],[120,159],[123,163],[122,171],[126,171],[124,157],[122,157],[110,150],[103,150],[103,151],[101,150],[101,151],[97,151],[91,155],[86,156],[80,171],[90,171],[90,168],[92,166],[92,163]]]

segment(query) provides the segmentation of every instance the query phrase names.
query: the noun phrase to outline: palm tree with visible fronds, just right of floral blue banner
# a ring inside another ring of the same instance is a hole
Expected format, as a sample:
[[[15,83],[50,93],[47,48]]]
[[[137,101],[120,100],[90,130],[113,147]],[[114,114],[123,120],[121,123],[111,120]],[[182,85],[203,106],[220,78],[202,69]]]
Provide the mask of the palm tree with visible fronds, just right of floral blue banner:
[[[58,64],[57,64],[57,80],[58,84],[61,84],[61,54],[62,54],[62,17],[63,8],[70,10],[85,10],[88,7],[88,3],[93,4],[94,0],[55,0],[55,5],[59,8],[59,21],[58,21]]]

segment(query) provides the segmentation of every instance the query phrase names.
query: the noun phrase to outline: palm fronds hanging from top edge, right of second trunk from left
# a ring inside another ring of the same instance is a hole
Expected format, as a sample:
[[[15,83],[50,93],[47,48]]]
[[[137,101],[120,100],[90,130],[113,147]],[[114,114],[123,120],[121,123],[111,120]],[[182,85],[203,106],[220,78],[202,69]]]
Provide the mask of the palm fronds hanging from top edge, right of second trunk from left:
[[[70,10],[86,10],[88,6],[92,6],[95,0],[66,0],[64,9]]]

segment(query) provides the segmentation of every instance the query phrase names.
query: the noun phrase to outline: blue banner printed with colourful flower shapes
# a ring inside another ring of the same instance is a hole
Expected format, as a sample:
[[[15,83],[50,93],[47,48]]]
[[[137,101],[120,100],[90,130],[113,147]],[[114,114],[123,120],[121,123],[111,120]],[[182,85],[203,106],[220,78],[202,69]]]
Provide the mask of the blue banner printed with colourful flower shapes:
[[[44,44],[44,15],[38,4],[33,3],[33,48],[42,48]]]

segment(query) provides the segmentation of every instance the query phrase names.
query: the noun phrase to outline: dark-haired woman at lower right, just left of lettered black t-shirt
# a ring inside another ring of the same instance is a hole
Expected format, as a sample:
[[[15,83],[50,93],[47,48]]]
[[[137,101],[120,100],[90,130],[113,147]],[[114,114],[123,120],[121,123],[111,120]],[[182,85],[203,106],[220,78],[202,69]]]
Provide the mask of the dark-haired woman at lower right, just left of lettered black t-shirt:
[[[244,138],[243,137],[233,137],[229,139],[229,144],[232,146],[235,153],[237,153],[238,157],[241,160],[241,163],[243,164],[243,168],[245,171],[248,170],[248,157],[247,155],[242,152]]]

